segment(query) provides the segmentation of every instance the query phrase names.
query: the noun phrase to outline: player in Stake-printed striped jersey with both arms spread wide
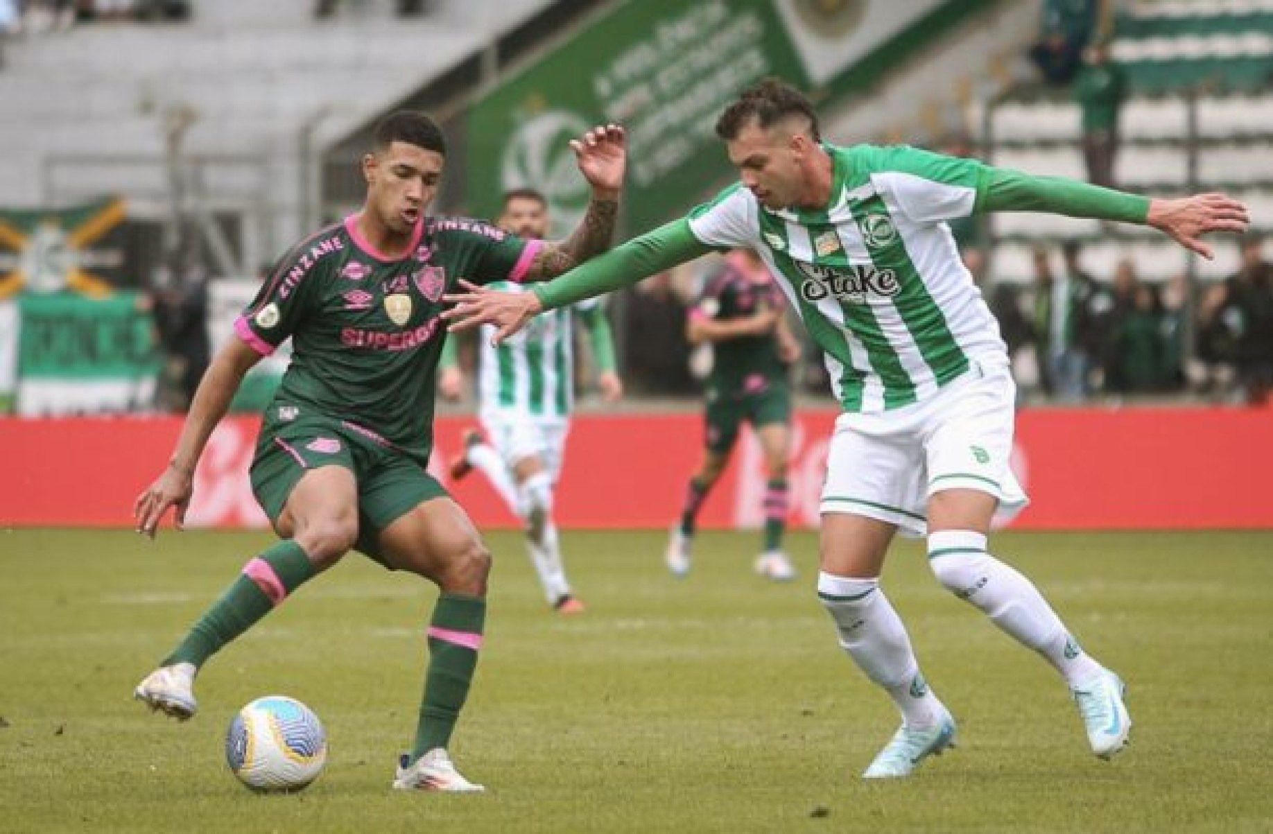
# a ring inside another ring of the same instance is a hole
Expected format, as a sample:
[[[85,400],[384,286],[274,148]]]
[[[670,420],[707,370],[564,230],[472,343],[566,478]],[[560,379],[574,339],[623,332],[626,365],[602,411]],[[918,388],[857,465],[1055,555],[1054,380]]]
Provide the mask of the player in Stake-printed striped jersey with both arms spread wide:
[[[906,777],[955,739],[880,587],[899,530],[928,537],[942,587],[1053,666],[1092,753],[1115,755],[1132,723],[1123,681],[987,546],[995,512],[1025,502],[1008,466],[1015,385],[948,222],[1048,211],[1134,223],[1211,257],[1202,236],[1244,232],[1246,208],[1222,194],[1148,199],[915,148],[836,146],[822,141],[808,101],[771,79],[726,108],[717,135],[740,182],[715,200],[533,292],[470,285],[444,317],[453,329],[493,325],[502,339],[541,311],[713,250],[755,250],[825,354],[843,407],[827,452],[817,595],[840,646],[901,713],[863,777]]]

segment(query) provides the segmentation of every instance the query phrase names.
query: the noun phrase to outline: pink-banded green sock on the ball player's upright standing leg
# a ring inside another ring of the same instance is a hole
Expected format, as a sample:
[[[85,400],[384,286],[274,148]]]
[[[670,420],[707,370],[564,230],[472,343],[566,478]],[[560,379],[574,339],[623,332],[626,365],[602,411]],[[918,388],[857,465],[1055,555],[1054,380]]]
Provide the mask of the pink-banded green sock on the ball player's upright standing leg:
[[[411,761],[446,747],[468,696],[486,623],[486,600],[443,592],[429,623],[429,668]]]

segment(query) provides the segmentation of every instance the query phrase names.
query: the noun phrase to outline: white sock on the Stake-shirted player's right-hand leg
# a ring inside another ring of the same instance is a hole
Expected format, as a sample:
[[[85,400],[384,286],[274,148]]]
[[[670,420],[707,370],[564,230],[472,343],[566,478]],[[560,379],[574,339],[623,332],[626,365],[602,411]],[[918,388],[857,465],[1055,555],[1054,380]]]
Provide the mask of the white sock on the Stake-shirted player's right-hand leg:
[[[981,534],[970,530],[929,534],[928,567],[947,591],[971,602],[1002,630],[1043,654],[1071,686],[1101,671],[1101,665],[1069,634],[1039,588],[985,551]]]

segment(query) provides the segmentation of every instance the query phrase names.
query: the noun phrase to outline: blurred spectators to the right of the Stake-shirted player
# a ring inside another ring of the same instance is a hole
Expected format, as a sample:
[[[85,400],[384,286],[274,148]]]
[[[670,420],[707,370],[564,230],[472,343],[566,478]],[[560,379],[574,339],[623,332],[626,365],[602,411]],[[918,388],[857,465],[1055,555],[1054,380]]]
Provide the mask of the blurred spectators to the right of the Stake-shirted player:
[[[1195,288],[1185,275],[1143,281],[1132,260],[1113,276],[1092,276],[1081,255],[1076,242],[1063,244],[1059,258],[1036,248],[1029,288],[1001,284],[988,293],[1026,393],[1068,402],[1155,393],[1267,399],[1273,265],[1258,238],[1244,241],[1235,275]]]

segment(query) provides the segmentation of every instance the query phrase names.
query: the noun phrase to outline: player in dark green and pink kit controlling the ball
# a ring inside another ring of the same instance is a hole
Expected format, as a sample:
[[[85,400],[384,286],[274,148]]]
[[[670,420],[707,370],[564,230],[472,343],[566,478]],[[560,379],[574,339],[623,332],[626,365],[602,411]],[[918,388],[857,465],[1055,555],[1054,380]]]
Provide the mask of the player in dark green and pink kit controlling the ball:
[[[440,590],[416,737],[395,788],[480,791],[447,745],[468,694],[486,619],[490,555],[463,509],[425,472],[434,372],[448,286],[544,280],[605,251],[626,154],[615,125],[570,143],[592,201],[561,242],[526,241],[491,224],[428,214],[446,141],[423,113],[397,112],[363,157],[362,211],[303,239],[236,322],[204,376],[164,471],[134,505],[154,536],[191,500],[195,469],[243,374],[285,339],[293,357],[265,414],[252,489],[280,541],[248,560],[135,695],[177,718],[195,714],[193,679],[216,651],[306,581],[356,549]]]

